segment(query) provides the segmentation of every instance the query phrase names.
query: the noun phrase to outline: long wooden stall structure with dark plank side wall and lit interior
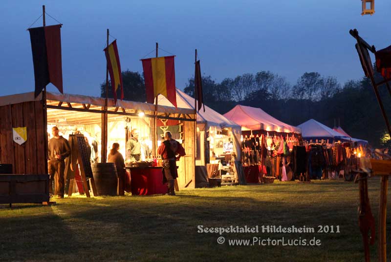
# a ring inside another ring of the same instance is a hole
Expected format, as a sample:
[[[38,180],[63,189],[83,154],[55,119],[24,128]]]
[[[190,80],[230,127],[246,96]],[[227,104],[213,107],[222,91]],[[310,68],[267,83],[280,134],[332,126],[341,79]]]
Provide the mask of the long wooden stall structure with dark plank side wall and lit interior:
[[[179,187],[194,188],[195,110],[161,105],[156,109],[155,105],[133,101],[117,101],[114,105],[114,101],[109,99],[105,110],[103,98],[49,92],[46,94],[45,107],[42,95],[34,98],[33,92],[0,97],[0,163],[11,163],[14,174],[47,174],[47,130],[50,124],[83,125],[85,131],[99,129],[103,133],[107,130],[108,135],[110,128],[127,118],[132,119],[134,124],[147,124],[151,130],[148,136],[152,140],[152,152],[155,152],[158,139],[154,120],[176,120],[183,126],[181,141],[187,153],[177,163],[178,184]],[[142,119],[137,118],[140,113]],[[107,121],[104,121],[105,115]],[[119,126],[122,127],[121,124]],[[22,145],[13,141],[12,130],[16,127],[27,129],[27,140]],[[107,152],[114,139],[110,140],[109,134],[107,142],[101,145],[101,151]],[[105,158],[105,154],[102,154],[102,158]]]

